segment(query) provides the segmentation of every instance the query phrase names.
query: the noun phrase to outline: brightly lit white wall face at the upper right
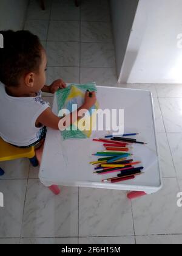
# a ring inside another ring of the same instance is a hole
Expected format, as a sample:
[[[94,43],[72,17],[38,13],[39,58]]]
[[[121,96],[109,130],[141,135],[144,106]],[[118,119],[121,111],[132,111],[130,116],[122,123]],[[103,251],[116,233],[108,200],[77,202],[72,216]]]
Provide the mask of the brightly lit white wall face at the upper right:
[[[140,0],[120,74],[123,83],[182,83],[181,0]]]

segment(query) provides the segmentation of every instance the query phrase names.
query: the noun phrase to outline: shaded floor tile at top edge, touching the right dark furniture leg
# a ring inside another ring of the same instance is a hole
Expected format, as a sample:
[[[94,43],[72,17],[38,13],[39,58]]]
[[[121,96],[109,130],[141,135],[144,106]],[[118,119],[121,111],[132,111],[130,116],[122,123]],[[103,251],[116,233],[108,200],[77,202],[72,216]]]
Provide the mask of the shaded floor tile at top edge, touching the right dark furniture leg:
[[[79,8],[75,7],[73,0],[53,0],[51,20],[79,21]]]

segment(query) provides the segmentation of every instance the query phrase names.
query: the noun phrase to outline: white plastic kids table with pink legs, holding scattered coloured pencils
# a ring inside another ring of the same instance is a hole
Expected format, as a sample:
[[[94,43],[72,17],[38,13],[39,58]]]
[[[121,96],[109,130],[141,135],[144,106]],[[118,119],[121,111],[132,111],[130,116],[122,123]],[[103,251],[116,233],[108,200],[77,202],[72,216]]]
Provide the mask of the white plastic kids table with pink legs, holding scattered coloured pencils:
[[[155,193],[161,189],[161,174],[158,160],[152,94],[146,90],[98,87],[99,108],[124,109],[124,132],[140,133],[138,141],[147,144],[133,144],[132,158],[141,161],[144,174],[133,180],[120,183],[103,183],[102,179],[115,177],[117,173],[103,176],[93,174],[94,167],[89,162],[96,161],[92,154],[102,151],[103,143],[93,138],[104,138],[108,132],[93,132],[92,137],[84,140],[66,140],[59,130],[48,129],[44,152],[39,169],[39,179],[46,186],[63,185],[90,188],[108,188],[133,191],[130,198]],[[56,97],[53,112],[58,115]],[[134,137],[135,138],[135,137]]]

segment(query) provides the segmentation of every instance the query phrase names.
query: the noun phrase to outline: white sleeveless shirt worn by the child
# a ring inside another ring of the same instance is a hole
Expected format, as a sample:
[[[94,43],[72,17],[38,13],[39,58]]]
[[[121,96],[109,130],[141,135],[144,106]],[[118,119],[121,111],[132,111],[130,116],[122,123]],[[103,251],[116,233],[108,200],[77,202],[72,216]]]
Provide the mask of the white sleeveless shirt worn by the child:
[[[42,127],[36,127],[35,122],[48,107],[41,91],[36,97],[12,97],[0,83],[0,137],[16,146],[29,146],[38,141]]]

